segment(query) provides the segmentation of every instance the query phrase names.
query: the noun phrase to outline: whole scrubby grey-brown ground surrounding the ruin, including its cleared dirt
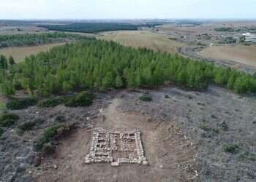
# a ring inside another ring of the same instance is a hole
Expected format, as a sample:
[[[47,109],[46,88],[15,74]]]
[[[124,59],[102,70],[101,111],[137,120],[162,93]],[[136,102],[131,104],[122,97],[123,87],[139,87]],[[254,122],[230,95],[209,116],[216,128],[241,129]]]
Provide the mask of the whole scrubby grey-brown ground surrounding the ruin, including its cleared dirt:
[[[145,93],[151,102],[140,101]],[[95,94],[89,107],[12,111],[20,116],[17,124],[35,121],[36,126],[22,135],[16,126],[4,128],[0,181],[255,181],[255,98],[213,86],[206,92],[164,87]],[[56,124],[56,116],[79,127],[57,143],[56,154],[34,167],[33,143]],[[149,165],[83,165],[95,127],[140,128]],[[237,145],[238,152],[225,151],[225,145]]]

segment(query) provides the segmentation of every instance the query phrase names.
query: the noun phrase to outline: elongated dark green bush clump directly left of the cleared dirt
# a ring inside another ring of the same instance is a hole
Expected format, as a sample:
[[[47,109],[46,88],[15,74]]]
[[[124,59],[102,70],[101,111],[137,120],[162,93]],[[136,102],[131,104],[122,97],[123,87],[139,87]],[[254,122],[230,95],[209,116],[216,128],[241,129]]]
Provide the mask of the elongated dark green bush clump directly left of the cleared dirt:
[[[66,135],[70,130],[74,128],[74,125],[70,124],[58,124],[46,129],[40,138],[34,143],[34,150],[41,151],[47,143],[52,143],[59,137]]]

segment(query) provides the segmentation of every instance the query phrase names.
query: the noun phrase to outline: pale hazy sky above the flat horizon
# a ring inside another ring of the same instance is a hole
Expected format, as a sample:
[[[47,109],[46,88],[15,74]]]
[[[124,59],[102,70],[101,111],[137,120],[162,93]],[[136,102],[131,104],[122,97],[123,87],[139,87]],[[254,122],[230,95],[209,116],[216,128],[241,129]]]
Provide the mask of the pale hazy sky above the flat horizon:
[[[0,0],[0,19],[256,18],[256,0]]]

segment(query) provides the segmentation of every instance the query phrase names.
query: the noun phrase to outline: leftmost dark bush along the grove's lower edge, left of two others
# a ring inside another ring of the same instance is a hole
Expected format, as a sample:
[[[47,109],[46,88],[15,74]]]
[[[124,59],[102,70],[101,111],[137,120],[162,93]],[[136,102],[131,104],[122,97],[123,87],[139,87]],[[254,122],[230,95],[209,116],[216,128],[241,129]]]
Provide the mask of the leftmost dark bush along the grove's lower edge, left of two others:
[[[12,98],[12,100],[7,103],[7,108],[11,110],[23,109],[34,106],[36,103],[37,100],[33,98]]]

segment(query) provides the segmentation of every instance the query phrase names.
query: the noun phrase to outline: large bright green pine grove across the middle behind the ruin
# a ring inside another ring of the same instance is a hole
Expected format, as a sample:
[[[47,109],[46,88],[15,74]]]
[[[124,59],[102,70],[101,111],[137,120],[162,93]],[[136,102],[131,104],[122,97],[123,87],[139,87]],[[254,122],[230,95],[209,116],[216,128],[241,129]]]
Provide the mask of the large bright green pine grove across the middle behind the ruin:
[[[5,95],[20,87],[31,95],[47,96],[82,89],[158,87],[166,81],[197,90],[212,83],[238,93],[256,92],[256,79],[248,74],[92,38],[31,55],[0,74]]]

